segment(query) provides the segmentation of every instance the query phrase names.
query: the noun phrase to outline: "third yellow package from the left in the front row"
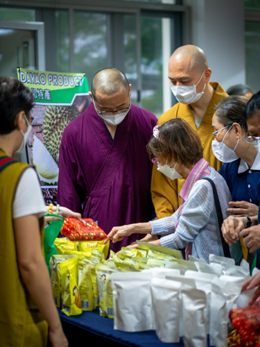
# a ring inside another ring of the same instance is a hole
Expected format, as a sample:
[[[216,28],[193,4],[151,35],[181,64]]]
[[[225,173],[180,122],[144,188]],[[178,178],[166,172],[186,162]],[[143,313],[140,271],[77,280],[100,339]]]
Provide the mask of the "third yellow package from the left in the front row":
[[[90,276],[89,260],[79,260],[78,290],[80,291],[81,307],[83,311],[93,311],[96,309],[92,278]]]

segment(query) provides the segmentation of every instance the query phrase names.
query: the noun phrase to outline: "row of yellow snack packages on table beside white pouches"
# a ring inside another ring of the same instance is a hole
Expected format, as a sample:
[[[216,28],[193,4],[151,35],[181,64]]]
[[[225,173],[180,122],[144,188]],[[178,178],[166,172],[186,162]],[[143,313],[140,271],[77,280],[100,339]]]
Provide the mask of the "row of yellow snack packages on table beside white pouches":
[[[177,259],[159,251],[121,248],[116,255],[101,242],[70,242],[56,239],[58,255],[50,260],[51,285],[57,307],[64,314],[76,315],[99,306],[101,316],[114,318],[111,274],[116,271],[141,271],[152,267],[197,271],[193,262]]]

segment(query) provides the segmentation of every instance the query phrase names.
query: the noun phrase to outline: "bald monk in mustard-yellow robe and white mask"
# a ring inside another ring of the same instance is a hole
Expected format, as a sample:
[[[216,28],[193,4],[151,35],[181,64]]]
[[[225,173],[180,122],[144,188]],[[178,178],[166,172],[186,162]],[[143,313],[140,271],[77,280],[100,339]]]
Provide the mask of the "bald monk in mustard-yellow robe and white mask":
[[[218,171],[222,163],[211,150],[214,139],[211,119],[215,106],[227,93],[219,83],[209,82],[210,76],[211,69],[202,49],[190,44],[176,49],[168,65],[168,78],[179,103],[159,118],[158,125],[177,117],[185,119],[200,136],[205,160]],[[183,183],[183,179],[170,180],[154,165],[151,192],[158,218],[171,216],[179,208]]]

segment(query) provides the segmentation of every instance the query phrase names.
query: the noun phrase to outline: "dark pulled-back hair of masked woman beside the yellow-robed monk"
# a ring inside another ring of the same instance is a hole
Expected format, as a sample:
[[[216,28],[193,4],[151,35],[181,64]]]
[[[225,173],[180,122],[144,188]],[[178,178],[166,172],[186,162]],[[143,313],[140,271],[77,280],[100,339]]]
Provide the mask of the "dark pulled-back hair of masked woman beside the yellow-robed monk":
[[[227,96],[227,98],[221,100],[216,105],[215,115],[218,121],[224,126],[238,123],[247,132],[248,126],[245,121],[245,108],[247,104],[248,99],[245,96]]]

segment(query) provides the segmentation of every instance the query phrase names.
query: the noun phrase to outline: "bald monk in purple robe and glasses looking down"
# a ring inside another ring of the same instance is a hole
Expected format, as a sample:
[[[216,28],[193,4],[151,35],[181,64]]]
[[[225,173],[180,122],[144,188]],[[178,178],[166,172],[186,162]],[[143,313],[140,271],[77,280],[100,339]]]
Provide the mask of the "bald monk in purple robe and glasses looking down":
[[[58,203],[98,221],[108,233],[151,217],[153,164],[146,144],[157,118],[131,105],[131,85],[117,69],[98,71],[91,90],[91,105],[62,135]],[[119,251],[138,238],[111,248]]]

